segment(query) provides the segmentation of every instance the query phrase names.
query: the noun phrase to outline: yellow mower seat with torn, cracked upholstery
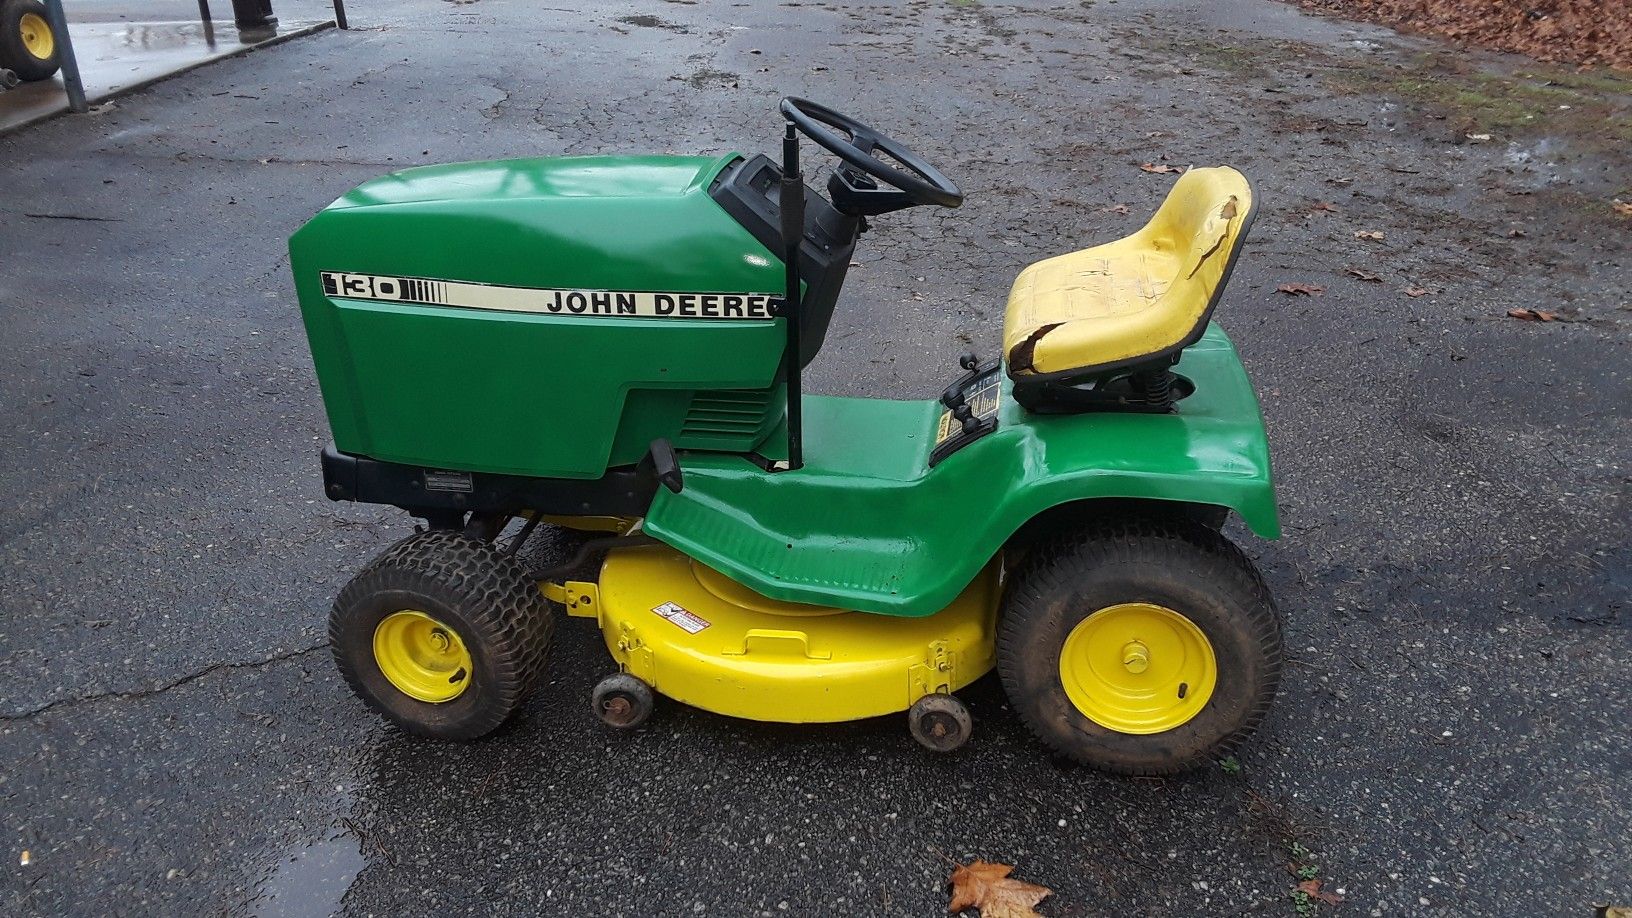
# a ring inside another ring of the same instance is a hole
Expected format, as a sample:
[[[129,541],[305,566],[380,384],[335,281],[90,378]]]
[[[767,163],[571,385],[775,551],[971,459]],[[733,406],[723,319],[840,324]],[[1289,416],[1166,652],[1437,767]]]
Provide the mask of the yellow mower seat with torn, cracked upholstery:
[[[1206,330],[1250,222],[1242,173],[1193,168],[1139,232],[1020,271],[1004,315],[1009,376],[1064,382],[1177,356]]]

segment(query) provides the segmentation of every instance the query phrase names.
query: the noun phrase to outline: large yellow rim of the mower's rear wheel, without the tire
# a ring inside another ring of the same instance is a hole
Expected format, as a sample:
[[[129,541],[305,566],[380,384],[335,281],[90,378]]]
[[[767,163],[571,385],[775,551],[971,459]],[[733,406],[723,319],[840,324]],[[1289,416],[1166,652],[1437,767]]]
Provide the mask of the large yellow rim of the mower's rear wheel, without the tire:
[[[1084,717],[1118,733],[1190,722],[1217,686],[1213,644],[1185,616],[1151,603],[1106,606],[1077,622],[1059,681]]]

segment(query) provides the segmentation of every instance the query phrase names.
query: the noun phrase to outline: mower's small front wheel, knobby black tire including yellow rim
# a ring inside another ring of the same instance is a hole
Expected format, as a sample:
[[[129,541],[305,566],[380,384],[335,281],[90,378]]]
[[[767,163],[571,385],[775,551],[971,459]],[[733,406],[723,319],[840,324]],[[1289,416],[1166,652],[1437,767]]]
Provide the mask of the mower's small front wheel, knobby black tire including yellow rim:
[[[351,691],[421,737],[498,729],[543,673],[553,616],[493,546],[432,529],[397,542],[339,591],[330,648]]]

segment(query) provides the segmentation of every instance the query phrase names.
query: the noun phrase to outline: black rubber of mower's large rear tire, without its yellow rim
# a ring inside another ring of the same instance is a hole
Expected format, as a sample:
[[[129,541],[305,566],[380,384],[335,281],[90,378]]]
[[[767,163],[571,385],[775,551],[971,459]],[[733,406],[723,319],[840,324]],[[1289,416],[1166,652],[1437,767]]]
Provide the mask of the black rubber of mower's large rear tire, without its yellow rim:
[[[1188,722],[1149,735],[1095,724],[1059,676],[1066,637],[1089,614],[1152,603],[1213,645],[1217,684]],[[1229,539],[1191,521],[1121,521],[1038,546],[1010,582],[997,626],[1009,702],[1054,751],[1118,774],[1173,774],[1234,751],[1281,681],[1281,622],[1268,586]]]

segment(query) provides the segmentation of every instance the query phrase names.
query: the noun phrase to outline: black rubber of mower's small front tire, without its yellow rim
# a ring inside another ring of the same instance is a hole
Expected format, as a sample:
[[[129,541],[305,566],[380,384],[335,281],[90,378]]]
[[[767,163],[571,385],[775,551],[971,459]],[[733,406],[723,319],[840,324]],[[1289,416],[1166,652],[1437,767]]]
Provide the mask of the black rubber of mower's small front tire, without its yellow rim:
[[[374,631],[416,609],[454,629],[470,652],[470,686],[431,704],[397,689],[374,658]],[[537,583],[488,542],[457,531],[416,533],[362,568],[335,599],[328,640],[346,684],[397,727],[473,740],[498,729],[543,675],[555,616]]]

